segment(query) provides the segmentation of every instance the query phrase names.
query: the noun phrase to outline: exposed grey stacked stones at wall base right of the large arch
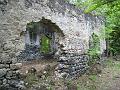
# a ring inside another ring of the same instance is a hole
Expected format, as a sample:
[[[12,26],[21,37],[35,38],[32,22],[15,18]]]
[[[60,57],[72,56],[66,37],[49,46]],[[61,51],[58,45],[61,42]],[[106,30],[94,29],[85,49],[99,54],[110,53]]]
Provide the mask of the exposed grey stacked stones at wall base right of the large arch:
[[[58,77],[76,78],[84,74],[88,68],[88,56],[75,52],[63,52],[58,62]]]

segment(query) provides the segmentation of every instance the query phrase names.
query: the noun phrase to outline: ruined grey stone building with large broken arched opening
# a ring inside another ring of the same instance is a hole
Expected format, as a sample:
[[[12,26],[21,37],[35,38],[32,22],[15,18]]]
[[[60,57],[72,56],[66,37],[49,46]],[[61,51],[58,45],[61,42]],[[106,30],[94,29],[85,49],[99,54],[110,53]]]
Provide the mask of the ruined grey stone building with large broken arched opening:
[[[62,48],[58,72],[71,77],[86,70],[91,37],[104,36],[103,25],[102,17],[84,14],[64,0],[0,0],[0,59],[55,58]],[[102,54],[104,38],[99,46]]]

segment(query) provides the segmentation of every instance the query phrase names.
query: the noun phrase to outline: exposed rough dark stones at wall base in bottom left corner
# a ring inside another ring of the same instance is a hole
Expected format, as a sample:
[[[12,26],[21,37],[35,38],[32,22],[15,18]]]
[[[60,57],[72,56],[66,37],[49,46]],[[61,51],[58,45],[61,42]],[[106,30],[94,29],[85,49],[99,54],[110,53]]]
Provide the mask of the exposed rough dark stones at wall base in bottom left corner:
[[[21,63],[12,64],[12,61],[0,61],[0,90],[25,89],[24,81],[20,78]]]

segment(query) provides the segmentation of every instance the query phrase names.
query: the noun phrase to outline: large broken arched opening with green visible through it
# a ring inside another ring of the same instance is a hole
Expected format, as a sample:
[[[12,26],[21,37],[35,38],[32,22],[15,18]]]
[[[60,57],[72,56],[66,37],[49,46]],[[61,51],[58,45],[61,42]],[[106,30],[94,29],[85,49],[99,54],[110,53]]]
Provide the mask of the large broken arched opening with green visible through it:
[[[25,50],[20,56],[27,60],[54,57],[61,37],[63,32],[51,20],[42,18],[39,22],[30,22],[26,26]]]

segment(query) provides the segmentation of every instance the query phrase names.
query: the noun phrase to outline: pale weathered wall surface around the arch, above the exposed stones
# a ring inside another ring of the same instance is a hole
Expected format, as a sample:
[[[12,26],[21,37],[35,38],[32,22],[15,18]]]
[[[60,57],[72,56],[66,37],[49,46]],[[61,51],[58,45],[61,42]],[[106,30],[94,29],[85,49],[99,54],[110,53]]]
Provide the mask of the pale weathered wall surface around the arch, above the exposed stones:
[[[0,11],[0,46],[4,49],[1,50],[1,56],[13,60],[24,49],[24,35],[20,34],[26,31],[27,23],[40,21],[42,17],[51,20],[65,34],[65,40],[60,43],[64,43],[67,49],[83,53],[89,48],[91,32],[87,29],[91,25],[87,26],[86,22],[90,20],[86,17],[92,18],[93,22],[99,20],[90,15],[86,16],[80,9],[65,3],[64,0],[1,0],[0,5],[2,8],[4,6],[4,12],[2,9]]]

